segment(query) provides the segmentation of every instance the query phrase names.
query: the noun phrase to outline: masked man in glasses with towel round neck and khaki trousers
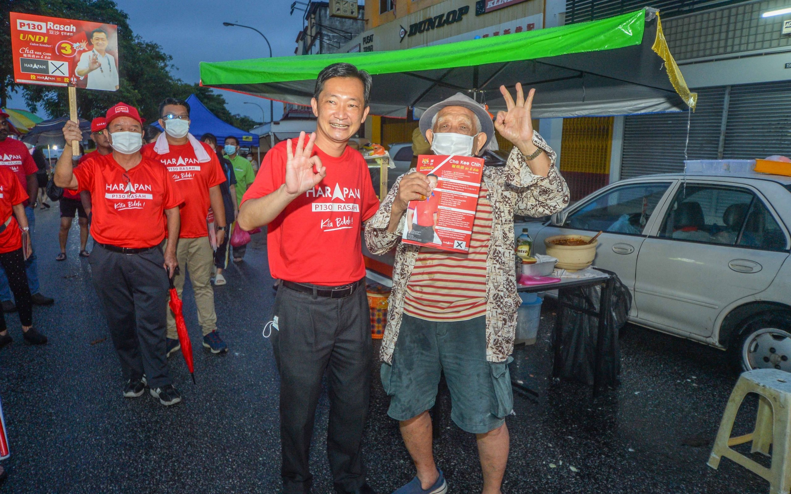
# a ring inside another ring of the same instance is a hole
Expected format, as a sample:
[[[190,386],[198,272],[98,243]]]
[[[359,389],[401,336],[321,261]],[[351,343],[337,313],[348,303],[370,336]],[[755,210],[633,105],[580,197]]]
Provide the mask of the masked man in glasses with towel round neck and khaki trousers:
[[[211,207],[214,224],[217,225],[217,243],[221,245],[225,239],[225,205],[220,184],[225,182],[225,174],[214,149],[189,133],[190,105],[186,101],[167,98],[159,105],[159,114],[159,124],[165,132],[156,142],[144,146],[142,153],[165,165],[184,198],[176,259],[182,269],[186,268],[190,273],[195,305],[198,306],[198,322],[203,330],[203,346],[212,353],[227,352],[228,345],[217,330],[214,288],[210,282],[214,250],[206,225],[206,215]],[[186,276],[184,271],[173,276],[179,296],[184,290]],[[176,319],[168,310],[168,356],[180,348]]]

